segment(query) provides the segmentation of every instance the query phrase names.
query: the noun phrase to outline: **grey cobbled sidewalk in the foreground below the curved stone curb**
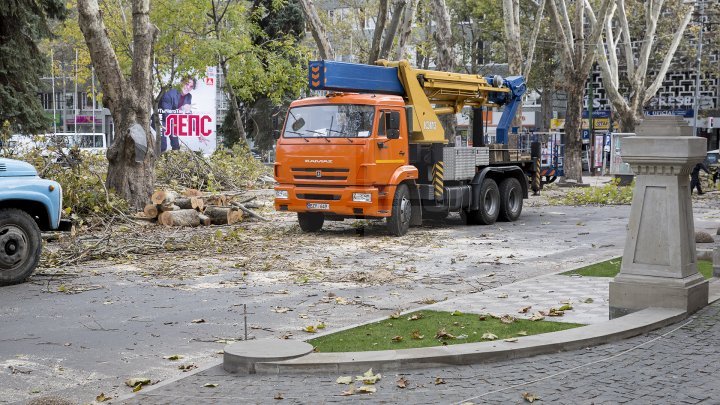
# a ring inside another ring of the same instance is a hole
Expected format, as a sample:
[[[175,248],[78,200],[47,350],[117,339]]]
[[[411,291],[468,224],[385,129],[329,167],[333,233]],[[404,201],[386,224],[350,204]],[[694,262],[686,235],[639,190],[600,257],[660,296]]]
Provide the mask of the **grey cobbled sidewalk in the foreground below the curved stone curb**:
[[[598,347],[474,366],[389,373],[376,393],[343,396],[338,375],[237,376],[214,367],[124,404],[718,403],[720,302],[650,334]],[[399,388],[397,381],[408,381]],[[215,388],[205,384],[218,384]],[[274,399],[280,398],[282,399]]]

